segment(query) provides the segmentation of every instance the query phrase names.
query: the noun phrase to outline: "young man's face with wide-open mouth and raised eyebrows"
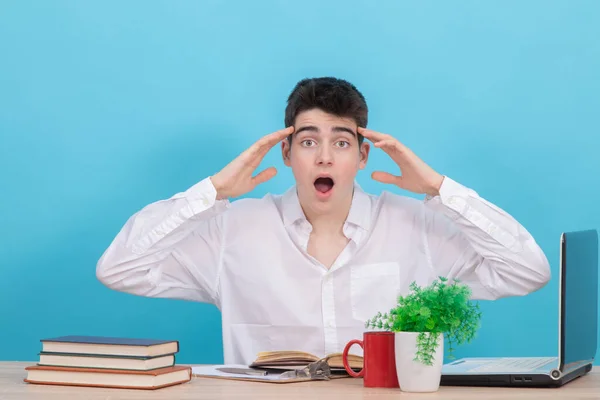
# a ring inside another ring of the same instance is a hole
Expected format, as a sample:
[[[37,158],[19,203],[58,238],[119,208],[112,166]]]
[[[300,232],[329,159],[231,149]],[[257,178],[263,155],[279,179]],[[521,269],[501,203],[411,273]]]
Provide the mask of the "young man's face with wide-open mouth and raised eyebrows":
[[[285,165],[292,168],[304,207],[326,212],[352,196],[354,179],[367,163],[369,145],[358,144],[356,122],[313,109],[296,117]]]

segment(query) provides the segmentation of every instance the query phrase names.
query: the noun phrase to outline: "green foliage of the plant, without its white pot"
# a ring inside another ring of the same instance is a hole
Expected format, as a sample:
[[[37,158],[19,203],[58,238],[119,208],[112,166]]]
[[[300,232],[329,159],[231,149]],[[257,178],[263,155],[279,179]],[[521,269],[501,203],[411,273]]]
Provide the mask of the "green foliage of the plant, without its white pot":
[[[458,280],[449,282],[440,277],[429,286],[410,285],[406,296],[398,297],[398,304],[387,313],[377,313],[367,320],[367,328],[392,332],[418,332],[415,361],[433,364],[439,335],[448,341],[452,357],[455,345],[470,342],[480,327],[479,304],[470,300],[471,290]]]

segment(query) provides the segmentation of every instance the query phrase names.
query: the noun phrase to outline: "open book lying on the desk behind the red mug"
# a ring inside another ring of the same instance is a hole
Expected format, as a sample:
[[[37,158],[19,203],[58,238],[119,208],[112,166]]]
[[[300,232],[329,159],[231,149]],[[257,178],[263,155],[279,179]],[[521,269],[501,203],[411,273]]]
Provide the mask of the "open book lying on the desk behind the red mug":
[[[345,370],[342,361],[342,353],[333,353],[320,358],[314,354],[303,351],[265,351],[258,353],[256,360],[250,364],[251,368],[273,368],[273,369],[297,369],[304,368],[308,364],[324,360],[332,370]],[[354,354],[348,354],[348,364],[353,370],[363,367],[363,358]]]

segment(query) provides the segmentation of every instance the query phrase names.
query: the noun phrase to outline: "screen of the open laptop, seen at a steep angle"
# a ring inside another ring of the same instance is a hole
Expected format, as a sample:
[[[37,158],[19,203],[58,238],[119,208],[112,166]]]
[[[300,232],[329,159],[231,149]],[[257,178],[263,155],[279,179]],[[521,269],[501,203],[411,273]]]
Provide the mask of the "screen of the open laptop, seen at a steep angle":
[[[560,369],[592,360],[598,338],[598,232],[566,232],[561,244]]]

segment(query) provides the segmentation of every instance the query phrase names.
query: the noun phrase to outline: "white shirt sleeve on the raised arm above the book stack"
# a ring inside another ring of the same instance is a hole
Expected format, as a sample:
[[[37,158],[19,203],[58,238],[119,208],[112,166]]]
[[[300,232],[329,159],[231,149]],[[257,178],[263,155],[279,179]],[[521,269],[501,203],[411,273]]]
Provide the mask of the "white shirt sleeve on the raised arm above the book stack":
[[[134,295],[217,304],[227,200],[206,178],[131,216],[96,266],[105,286]]]

